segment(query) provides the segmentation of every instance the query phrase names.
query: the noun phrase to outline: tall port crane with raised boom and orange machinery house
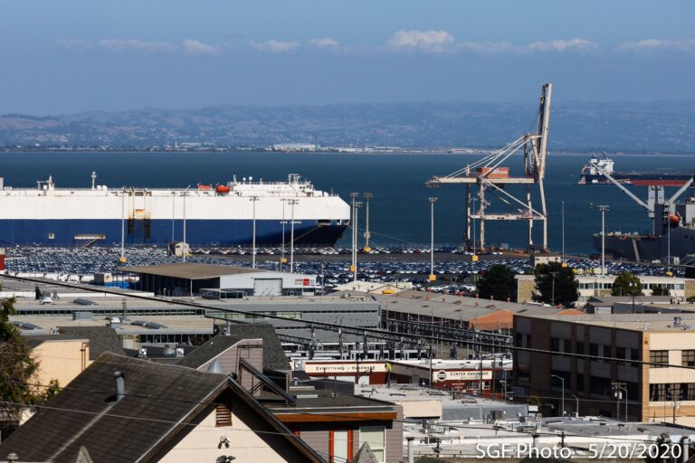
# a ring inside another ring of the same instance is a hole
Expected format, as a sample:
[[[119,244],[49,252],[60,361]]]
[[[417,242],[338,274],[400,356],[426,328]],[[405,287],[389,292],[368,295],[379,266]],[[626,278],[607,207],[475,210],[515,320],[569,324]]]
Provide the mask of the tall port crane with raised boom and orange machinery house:
[[[533,226],[534,222],[542,222],[543,239],[542,249],[547,250],[547,204],[543,179],[546,174],[547,163],[547,132],[550,124],[550,98],[552,84],[543,84],[538,108],[538,130],[536,133],[527,133],[510,142],[500,150],[490,153],[488,156],[466,165],[449,175],[433,176],[427,181],[428,187],[440,187],[444,184],[466,185],[466,243],[471,242],[471,219],[479,221],[480,247],[485,247],[485,222],[486,221],[527,221],[528,222],[528,248],[534,247]],[[523,152],[523,175],[510,176],[509,167],[504,163],[515,153]],[[478,185],[476,194],[480,207],[475,213],[471,213],[471,187]],[[526,186],[526,197],[518,198],[504,190],[506,184],[522,184]],[[540,207],[531,202],[531,190],[538,187]],[[489,206],[491,199],[497,199],[512,211],[509,213],[491,213]],[[475,243],[473,243],[475,246]]]

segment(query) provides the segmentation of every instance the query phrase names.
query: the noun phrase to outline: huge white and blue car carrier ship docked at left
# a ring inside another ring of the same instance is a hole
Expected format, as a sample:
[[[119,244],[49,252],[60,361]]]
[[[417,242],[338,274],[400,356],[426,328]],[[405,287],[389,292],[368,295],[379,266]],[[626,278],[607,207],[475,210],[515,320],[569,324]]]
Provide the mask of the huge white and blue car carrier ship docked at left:
[[[348,227],[350,207],[336,194],[314,188],[300,175],[287,182],[198,184],[185,189],[58,188],[53,179],[36,188],[5,186],[0,178],[0,246],[290,244],[334,246]],[[283,240],[284,237],[284,240]]]

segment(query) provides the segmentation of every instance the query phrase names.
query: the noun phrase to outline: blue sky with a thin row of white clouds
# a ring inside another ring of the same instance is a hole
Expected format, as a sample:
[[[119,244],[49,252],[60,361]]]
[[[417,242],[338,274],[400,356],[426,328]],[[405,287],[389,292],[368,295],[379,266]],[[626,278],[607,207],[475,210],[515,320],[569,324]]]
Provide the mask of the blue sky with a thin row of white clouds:
[[[695,2],[0,0],[0,114],[695,99]]]

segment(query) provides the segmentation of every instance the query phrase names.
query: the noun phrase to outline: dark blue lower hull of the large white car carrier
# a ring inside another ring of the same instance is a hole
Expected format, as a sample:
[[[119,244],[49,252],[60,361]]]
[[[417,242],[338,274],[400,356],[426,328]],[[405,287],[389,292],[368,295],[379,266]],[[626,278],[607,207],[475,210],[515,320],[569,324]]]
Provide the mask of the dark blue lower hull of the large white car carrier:
[[[191,246],[251,245],[252,220],[187,220],[186,241]],[[296,220],[294,243],[300,246],[335,246],[347,225],[338,221]],[[183,241],[182,220],[137,220],[125,222],[129,246],[165,245]],[[290,224],[284,227],[290,243]],[[112,246],[121,241],[120,220],[2,220],[0,245],[75,246],[88,242]],[[256,245],[275,246],[282,242],[281,221],[256,221]]]

